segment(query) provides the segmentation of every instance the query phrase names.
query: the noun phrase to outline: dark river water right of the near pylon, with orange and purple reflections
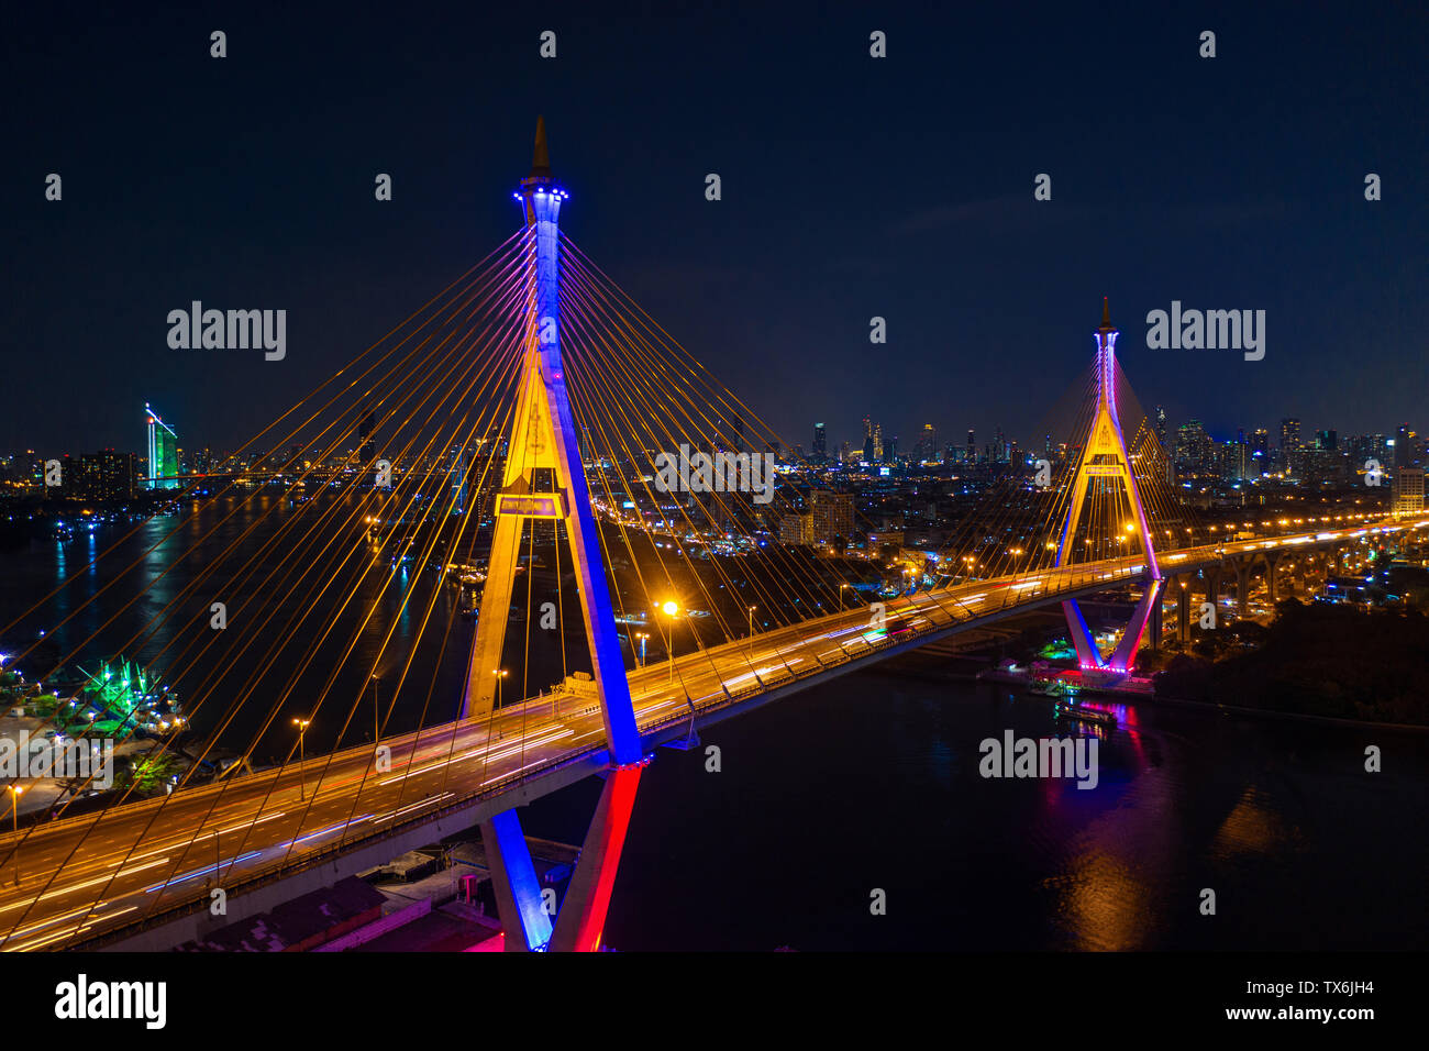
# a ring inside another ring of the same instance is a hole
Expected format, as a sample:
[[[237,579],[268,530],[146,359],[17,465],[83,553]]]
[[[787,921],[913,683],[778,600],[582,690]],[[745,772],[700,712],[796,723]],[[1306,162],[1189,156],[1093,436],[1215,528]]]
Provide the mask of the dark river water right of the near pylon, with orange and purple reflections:
[[[985,779],[1047,698],[913,656],[662,749],[630,828],[624,949],[1379,949],[1429,944],[1429,736],[1142,704],[1100,784]],[[1383,749],[1385,772],[1363,771]],[[530,808],[580,841],[596,785]],[[579,796],[579,798],[577,798]],[[870,915],[870,892],[887,912]],[[1200,891],[1216,915],[1200,915]]]

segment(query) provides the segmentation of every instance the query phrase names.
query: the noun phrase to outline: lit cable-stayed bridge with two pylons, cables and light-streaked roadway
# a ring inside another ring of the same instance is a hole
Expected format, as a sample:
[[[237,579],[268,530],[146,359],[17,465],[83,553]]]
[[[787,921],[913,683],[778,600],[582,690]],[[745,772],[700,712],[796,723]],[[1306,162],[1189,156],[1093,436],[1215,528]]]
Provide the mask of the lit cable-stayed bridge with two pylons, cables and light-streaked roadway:
[[[1167,592],[1187,631],[1198,586],[1215,603],[1220,578],[1233,576],[1245,602],[1256,566],[1273,589],[1283,552],[1429,525],[1275,522],[1246,531],[1269,535],[1216,536],[1169,483],[1103,306],[1086,385],[1065,399],[1067,419],[1049,425],[1066,440],[1049,430],[1036,473],[989,486],[929,566],[890,582],[870,559],[775,543],[782,518],[829,505],[829,529],[853,532],[837,515],[852,516],[852,500],[820,499],[816,472],[797,465],[776,483],[777,436],[560,233],[569,194],[543,129],[513,196],[523,226],[506,245],[250,443],[250,468],[290,476],[304,502],[262,541],[244,531],[120,641],[197,699],[190,718],[213,705],[203,755],[252,709],[262,729],[244,759],[287,722],[297,724],[293,752],[273,769],[4,837],[4,948],[181,941],[266,908],[279,887],[289,895],[480,824],[507,947],[594,949],[656,746],[1043,605],[1062,606],[1085,669],[1126,673],[1143,642],[1157,643]],[[306,499],[313,479],[327,499]],[[186,518],[170,535],[201,528]],[[547,552],[554,602],[534,585]],[[402,579],[409,562],[434,578],[426,593]],[[377,598],[396,596],[444,652],[462,632],[443,585],[466,571],[482,593],[464,685],[434,696],[434,676],[422,684],[412,653],[392,643]],[[567,579],[580,619],[572,633],[584,645],[567,652],[562,625],[560,673],[542,681],[533,625],[567,615]],[[1117,591],[1137,598],[1103,652],[1077,599]],[[227,593],[259,598],[214,629],[209,599]],[[270,593],[297,612],[266,608]],[[367,665],[357,643],[372,632],[380,648]],[[103,645],[97,635],[84,643]],[[663,636],[664,661],[642,659],[652,635]],[[262,655],[259,671],[229,675],[246,655]],[[343,732],[364,718],[383,658],[400,673],[384,708],[373,698],[374,739],[344,745],[339,734],[332,751],[307,755],[319,712]],[[546,694],[556,679],[579,688]],[[420,728],[397,731],[399,702],[419,698]],[[516,806],[597,774],[600,802],[552,917]],[[216,894],[227,899],[221,918],[210,914]]]

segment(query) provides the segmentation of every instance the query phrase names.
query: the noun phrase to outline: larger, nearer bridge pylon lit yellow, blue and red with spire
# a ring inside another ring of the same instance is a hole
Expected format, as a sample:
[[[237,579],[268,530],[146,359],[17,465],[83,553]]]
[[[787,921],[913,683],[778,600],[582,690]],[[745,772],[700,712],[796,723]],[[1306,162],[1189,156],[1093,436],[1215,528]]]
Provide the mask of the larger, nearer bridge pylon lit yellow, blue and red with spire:
[[[643,755],[630,684],[606,583],[600,533],[590,510],[560,355],[560,206],[569,193],[552,174],[546,122],[536,120],[530,174],[512,194],[526,223],[526,335],[522,379],[507,445],[486,588],[467,665],[462,718],[493,714],[512,588],[527,520],[563,523],[599,689],[610,771],[554,927],[543,908],[516,811],[482,824],[507,949],[596,949],[604,925]]]

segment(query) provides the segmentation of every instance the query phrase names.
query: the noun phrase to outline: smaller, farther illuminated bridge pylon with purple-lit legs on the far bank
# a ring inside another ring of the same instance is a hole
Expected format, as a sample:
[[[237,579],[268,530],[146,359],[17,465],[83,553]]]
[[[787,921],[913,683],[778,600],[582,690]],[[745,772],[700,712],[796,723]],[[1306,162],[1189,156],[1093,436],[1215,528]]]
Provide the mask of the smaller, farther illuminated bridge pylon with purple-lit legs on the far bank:
[[[1082,508],[1086,502],[1087,489],[1092,479],[1100,485],[1103,479],[1120,480],[1126,490],[1126,499],[1136,516],[1136,531],[1140,535],[1142,549],[1146,552],[1146,586],[1140,602],[1132,612],[1132,619],[1126,625],[1122,641],[1116,645],[1110,658],[1105,656],[1096,645],[1096,636],[1087,626],[1086,618],[1076,599],[1062,603],[1062,611],[1067,618],[1067,632],[1072,635],[1072,645],[1076,646],[1077,663],[1082,668],[1109,668],[1112,671],[1129,671],[1136,659],[1146,622],[1160,612],[1162,573],[1156,563],[1156,548],[1152,543],[1152,533],[1146,525],[1146,508],[1142,505],[1136,486],[1136,472],[1132,469],[1132,458],[1126,452],[1126,439],[1122,435],[1122,422],[1116,410],[1116,336],[1117,329],[1112,327],[1110,306],[1102,300],[1102,325],[1096,330],[1096,412],[1092,415],[1092,425],[1087,429],[1086,442],[1082,446],[1082,458],[1072,479],[1072,499],[1067,503],[1066,518],[1062,522],[1062,538],[1057,542],[1057,566],[1066,565],[1072,556],[1072,542],[1076,536],[1077,522],[1082,518]]]

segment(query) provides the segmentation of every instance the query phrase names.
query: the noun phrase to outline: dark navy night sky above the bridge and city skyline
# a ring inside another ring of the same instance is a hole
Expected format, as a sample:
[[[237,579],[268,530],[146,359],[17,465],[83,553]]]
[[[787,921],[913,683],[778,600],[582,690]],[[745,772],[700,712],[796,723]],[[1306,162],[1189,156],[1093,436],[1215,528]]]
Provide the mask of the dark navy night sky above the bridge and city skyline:
[[[1173,426],[1429,428],[1422,4],[129,7],[9,13],[0,452],[243,443],[516,229],[537,113],[563,229],[805,448],[1033,438],[1103,295]],[[169,349],[194,299],[286,360]],[[1173,299],[1265,359],[1149,350]]]

